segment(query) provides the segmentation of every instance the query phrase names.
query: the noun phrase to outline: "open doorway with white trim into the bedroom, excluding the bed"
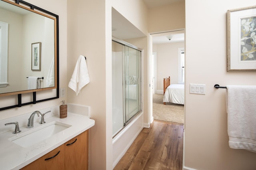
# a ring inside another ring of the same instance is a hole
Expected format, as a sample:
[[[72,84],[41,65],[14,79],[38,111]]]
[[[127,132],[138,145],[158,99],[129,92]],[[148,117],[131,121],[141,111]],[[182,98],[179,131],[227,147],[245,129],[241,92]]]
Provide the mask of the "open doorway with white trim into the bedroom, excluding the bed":
[[[184,29],[150,34],[149,113],[151,122],[161,117],[160,121],[184,124],[184,105],[176,103],[163,105],[162,103],[163,79],[165,77],[170,76],[171,84],[184,84],[185,67],[181,52],[184,56]],[[153,107],[159,107],[163,110],[160,111],[161,109],[154,109]],[[159,111],[159,114],[156,115],[156,111],[153,113],[153,110]],[[169,111],[173,111],[174,114],[169,115]]]

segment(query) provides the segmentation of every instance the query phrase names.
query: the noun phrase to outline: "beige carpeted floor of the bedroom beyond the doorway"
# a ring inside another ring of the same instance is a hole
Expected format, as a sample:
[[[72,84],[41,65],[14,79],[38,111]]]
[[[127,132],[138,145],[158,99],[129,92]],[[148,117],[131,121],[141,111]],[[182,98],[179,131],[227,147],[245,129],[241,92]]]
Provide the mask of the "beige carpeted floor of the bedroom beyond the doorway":
[[[184,124],[184,105],[175,103],[163,104],[163,95],[153,94],[154,120]]]

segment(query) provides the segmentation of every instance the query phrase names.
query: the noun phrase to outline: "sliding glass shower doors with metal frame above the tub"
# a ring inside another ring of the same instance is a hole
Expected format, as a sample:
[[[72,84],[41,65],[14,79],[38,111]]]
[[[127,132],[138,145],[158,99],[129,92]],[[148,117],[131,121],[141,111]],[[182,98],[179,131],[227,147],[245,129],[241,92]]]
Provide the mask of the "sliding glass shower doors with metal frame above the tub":
[[[141,51],[112,42],[112,135],[140,113]]]

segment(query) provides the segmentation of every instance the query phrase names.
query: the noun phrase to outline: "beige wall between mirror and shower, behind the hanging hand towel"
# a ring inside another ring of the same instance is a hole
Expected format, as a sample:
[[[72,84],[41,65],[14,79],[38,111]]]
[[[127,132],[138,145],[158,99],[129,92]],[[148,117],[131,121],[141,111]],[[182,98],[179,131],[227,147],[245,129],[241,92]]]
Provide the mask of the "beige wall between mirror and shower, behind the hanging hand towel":
[[[68,88],[68,102],[91,106],[91,118],[95,120],[95,126],[90,129],[89,166],[90,169],[106,169],[106,117],[108,113],[106,112],[105,2],[78,0],[74,3],[68,0],[67,7],[67,83],[72,76],[79,55],[86,56],[90,76],[90,83],[80,91],[78,96]]]

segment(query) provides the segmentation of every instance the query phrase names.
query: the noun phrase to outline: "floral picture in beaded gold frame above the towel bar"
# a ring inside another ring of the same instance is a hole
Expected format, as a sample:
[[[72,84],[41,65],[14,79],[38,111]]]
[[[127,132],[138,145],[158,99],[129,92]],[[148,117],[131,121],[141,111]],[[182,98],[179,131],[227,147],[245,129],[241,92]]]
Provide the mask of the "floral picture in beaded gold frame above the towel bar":
[[[256,6],[227,11],[227,71],[256,71]]]

